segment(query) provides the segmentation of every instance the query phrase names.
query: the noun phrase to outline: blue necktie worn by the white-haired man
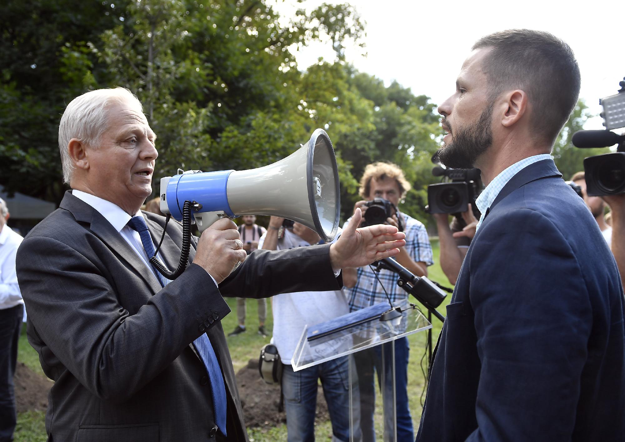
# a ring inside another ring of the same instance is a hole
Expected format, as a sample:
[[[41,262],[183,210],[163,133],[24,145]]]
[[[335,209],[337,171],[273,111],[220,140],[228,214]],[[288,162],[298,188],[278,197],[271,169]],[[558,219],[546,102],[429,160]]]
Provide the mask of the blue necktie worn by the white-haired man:
[[[154,256],[154,243],[148,230],[148,224],[143,216],[136,216],[130,219],[128,222],[130,228],[139,232],[141,237],[141,243],[143,248],[148,253],[148,258]],[[169,280],[165,278],[161,273],[156,270],[154,266],[151,266],[156,273],[156,276],[161,282],[161,285],[165,287]],[[199,338],[193,341],[197,353],[200,355],[208,376],[211,380],[211,392],[212,392],[212,406],[215,411],[215,424],[219,431],[226,436],[226,386],[224,385],[224,377],[221,374],[221,368],[219,368],[219,361],[217,361],[217,355],[212,349],[211,341],[206,333],[202,333]]]

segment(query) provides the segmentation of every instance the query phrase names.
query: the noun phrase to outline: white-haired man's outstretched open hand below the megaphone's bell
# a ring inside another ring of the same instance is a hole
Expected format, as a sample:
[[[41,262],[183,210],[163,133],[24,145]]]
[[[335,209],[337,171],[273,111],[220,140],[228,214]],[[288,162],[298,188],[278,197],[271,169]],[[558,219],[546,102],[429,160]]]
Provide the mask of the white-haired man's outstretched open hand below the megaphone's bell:
[[[357,228],[361,220],[361,210],[356,209],[341,237],[330,246],[330,262],[335,272],[392,257],[399,253],[399,247],[406,245],[406,235],[398,232],[397,227],[378,224]]]

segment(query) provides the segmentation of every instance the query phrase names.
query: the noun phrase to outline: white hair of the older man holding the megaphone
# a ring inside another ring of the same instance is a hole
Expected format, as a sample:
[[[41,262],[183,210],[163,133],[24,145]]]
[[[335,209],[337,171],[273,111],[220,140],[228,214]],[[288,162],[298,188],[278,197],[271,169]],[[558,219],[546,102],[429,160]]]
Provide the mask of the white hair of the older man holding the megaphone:
[[[63,182],[69,183],[74,170],[68,152],[69,141],[77,138],[89,147],[97,148],[108,126],[106,112],[108,106],[113,102],[121,103],[127,100],[136,101],[139,109],[143,110],[139,99],[124,87],[89,91],[69,102],[59,122],[59,150],[63,165]]]

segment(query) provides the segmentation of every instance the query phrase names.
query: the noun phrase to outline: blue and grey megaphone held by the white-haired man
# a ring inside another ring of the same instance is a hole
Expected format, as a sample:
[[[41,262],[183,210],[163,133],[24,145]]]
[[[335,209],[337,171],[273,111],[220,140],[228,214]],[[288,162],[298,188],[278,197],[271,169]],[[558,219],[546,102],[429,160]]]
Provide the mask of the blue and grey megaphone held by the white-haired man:
[[[339,227],[339,175],[325,130],[306,145],[258,169],[179,170],[161,179],[161,212],[183,219],[184,202],[200,232],[221,217],[275,215],[302,223],[331,242]]]

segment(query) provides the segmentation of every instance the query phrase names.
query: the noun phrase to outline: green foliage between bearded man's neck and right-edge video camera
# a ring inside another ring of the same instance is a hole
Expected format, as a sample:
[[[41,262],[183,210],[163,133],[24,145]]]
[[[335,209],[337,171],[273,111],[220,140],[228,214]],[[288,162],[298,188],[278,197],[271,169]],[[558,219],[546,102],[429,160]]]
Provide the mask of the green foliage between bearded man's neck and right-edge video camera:
[[[578,101],[571,117],[554,143],[552,157],[556,162],[557,169],[562,173],[562,178],[565,180],[571,179],[576,172],[584,170],[584,158],[610,152],[609,147],[579,149],[572,145],[571,137],[577,130],[582,130],[583,125],[590,117],[592,117],[592,114],[588,112],[588,107],[584,101]]]

